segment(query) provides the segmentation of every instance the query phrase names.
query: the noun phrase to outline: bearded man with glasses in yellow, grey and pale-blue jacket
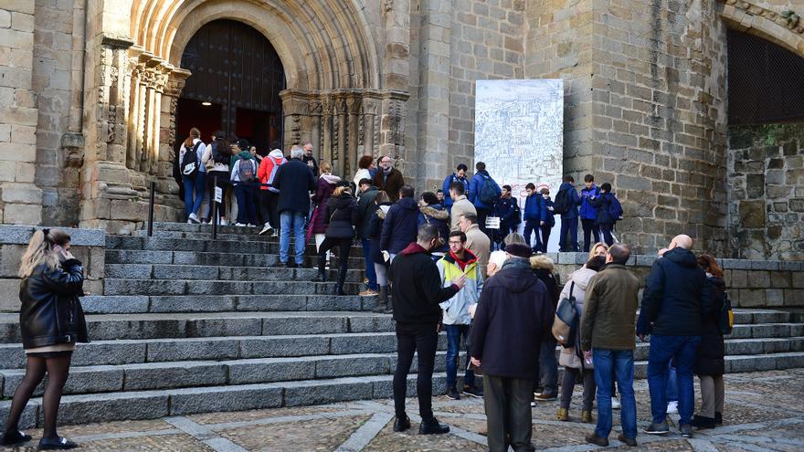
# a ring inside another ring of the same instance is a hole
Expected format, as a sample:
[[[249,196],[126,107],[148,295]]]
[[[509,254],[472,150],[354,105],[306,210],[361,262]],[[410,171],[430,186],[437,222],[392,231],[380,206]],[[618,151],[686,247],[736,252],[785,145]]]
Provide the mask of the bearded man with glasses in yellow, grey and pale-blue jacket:
[[[483,277],[478,258],[466,248],[466,234],[460,231],[450,233],[450,252],[436,263],[444,287],[450,287],[452,279],[461,275],[466,278],[463,289],[460,289],[450,300],[442,301],[444,311],[441,321],[447,331],[447,396],[459,400],[458,363],[460,362],[460,345],[467,350],[466,365],[469,367],[469,352],[466,341],[469,337],[471,306],[477,304],[483,289]],[[474,372],[467,369],[463,375],[463,394],[471,397],[482,397],[483,390],[474,385]]]

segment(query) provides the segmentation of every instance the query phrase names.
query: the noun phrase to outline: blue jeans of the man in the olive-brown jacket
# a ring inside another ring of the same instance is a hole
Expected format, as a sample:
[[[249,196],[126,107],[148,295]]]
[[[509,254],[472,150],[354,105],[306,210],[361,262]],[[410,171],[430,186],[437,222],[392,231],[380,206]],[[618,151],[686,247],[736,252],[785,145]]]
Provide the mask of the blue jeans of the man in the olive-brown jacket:
[[[634,351],[592,349],[595,383],[598,384],[598,426],[595,433],[608,438],[611,433],[611,386],[619,386],[622,435],[637,437],[637,399],[634,396]]]

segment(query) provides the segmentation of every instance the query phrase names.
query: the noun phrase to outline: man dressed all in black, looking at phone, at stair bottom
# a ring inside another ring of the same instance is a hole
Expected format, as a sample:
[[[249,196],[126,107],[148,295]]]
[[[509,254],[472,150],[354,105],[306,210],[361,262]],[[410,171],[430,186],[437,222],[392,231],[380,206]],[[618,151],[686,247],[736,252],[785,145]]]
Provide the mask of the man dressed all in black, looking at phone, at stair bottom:
[[[433,225],[418,228],[416,241],[410,243],[391,264],[390,279],[393,282],[394,321],[397,322],[397,370],[394,373],[394,407],[397,414],[394,431],[410,428],[410,419],[405,412],[407,373],[413,363],[414,352],[418,353],[416,391],[422,435],[450,432],[449,426],[439,424],[433,415],[433,368],[436,349],[439,345],[439,321],[441,301],[450,300],[463,287],[466,279],[461,275],[453,279],[450,287],[442,287],[439,268],[430,256],[436,247],[439,230]]]

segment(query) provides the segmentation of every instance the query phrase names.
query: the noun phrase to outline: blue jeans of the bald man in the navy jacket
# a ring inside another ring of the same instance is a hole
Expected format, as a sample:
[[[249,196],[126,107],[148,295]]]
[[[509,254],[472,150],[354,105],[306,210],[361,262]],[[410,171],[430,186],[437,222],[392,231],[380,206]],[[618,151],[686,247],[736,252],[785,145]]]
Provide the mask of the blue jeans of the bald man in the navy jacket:
[[[701,336],[651,336],[648,354],[648,388],[651,391],[651,414],[654,424],[664,424],[667,418],[668,365],[675,358],[678,381],[679,426],[693,422],[695,393],[693,365]]]

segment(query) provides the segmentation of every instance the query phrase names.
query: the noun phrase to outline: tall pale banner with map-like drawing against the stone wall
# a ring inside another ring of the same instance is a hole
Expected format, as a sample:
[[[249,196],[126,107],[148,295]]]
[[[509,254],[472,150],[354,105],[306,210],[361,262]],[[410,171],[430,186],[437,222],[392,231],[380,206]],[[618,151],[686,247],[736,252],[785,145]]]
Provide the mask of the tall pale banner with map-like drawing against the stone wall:
[[[562,79],[478,80],[474,124],[475,162],[486,163],[501,186],[511,185],[523,210],[528,183],[555,198],[564,159]],[[524,220],[520,232],[523,228]],[[547,251],[558,251],[560,230],[561,217],[555,215]]]

